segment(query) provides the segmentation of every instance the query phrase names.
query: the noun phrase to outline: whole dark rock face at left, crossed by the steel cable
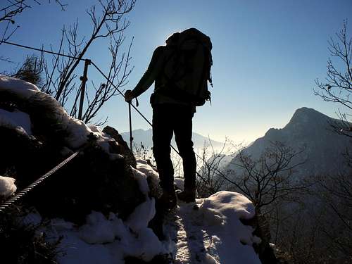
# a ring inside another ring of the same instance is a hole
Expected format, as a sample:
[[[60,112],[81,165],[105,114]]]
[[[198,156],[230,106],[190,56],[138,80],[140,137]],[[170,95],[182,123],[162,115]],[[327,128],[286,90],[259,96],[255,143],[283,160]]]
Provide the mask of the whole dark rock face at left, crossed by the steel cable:
[[[0,93],[0,108],[4,113],[26,113],[31,121],[32,134],[0,124],[0,175],[14,177],[18,189],[77,151],[75,146],[84,146],[79,156],[24,200],[42,216],[79,223],[92,210],[97,210],[118,213],[125,219],[144,201],[130,167],[135,167],[136,161],[117,131],[107,127],[104,136],[96,127],[89,129],[68,117],[51,96],[40,92],[30,98],[4,90]]]

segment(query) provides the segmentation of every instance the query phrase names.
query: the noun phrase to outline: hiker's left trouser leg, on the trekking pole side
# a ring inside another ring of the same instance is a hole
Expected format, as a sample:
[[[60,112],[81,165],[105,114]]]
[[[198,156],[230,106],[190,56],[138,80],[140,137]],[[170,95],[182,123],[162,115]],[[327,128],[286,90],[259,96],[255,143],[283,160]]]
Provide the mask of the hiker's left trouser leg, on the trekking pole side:
[[[174,189],[174,168],[170,158],[172,139],[172,120],[167,109],[153,107],[153,155],[158,168],[160,184],[164,191]]]

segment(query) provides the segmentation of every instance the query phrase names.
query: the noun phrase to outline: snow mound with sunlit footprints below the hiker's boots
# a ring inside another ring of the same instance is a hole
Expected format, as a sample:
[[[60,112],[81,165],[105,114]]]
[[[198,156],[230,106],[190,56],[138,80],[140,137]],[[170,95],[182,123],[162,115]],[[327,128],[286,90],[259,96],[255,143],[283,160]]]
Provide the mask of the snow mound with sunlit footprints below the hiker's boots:
[[[164,227],[175,242],[175,263],[260,263],[251,246],[260,239],[253,236],[253,227],[239,221],[254,216],[253,204],[245,196],[220,191],[196,203],[179,204]]]

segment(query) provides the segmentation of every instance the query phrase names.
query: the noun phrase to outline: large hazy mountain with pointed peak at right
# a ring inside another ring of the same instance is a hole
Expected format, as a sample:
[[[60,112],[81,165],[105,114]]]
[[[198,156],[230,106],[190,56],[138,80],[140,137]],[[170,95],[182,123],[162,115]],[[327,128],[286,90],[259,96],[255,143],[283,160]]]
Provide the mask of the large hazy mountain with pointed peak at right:
[[[334,174],[347,169],[342,153],[351,139],[332,131],[330,124],[339,122],[313,108],[298,108],[291,120],[281,129],[270,128],[264,137],[256,139],[245,149],[247,155],[258,158],[272,142],[282,142],[293,149],[304,151],[295,162],[306,161],[297,168],[296,177]],[[236,157],[227,165],[234,169]]]

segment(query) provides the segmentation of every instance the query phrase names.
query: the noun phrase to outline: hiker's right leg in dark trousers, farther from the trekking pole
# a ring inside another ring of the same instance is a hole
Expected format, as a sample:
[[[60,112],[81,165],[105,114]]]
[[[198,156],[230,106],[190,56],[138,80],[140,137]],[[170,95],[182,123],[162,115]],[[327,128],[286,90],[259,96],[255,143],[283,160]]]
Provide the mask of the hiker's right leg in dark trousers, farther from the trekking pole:
[[[192,118],[194,113],[189,107],[180,107],[175,120],[175,141],[180,152],[184,170],[184,191],[195,195],[196,189],[196,156],[192,142]]]

